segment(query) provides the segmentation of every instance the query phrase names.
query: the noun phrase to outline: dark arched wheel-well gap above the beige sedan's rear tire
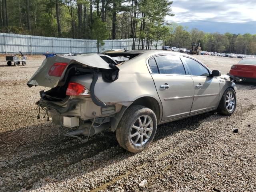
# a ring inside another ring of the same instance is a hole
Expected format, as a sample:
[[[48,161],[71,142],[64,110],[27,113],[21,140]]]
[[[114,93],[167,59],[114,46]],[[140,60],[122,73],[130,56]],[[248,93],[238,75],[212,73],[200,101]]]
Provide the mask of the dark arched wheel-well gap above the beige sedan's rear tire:
[[[155,98],[152,97],[141,97],[135,100],[131,106],[133,105],[142,105],[147,108],[150,108],[154,113],[156,114],[156,119],[159,122],[160,121],[160,106],[158,101]]]

